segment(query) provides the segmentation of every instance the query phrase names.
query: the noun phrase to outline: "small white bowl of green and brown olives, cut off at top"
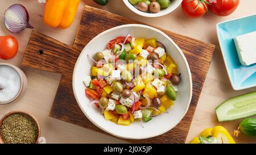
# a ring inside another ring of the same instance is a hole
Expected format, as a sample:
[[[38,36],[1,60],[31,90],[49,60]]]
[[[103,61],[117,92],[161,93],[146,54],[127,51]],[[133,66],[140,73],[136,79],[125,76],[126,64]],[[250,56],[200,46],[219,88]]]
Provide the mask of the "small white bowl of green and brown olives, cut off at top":
[[[123,2],[138,15],[158,17],[174,11],[182,0],[123,0]]]

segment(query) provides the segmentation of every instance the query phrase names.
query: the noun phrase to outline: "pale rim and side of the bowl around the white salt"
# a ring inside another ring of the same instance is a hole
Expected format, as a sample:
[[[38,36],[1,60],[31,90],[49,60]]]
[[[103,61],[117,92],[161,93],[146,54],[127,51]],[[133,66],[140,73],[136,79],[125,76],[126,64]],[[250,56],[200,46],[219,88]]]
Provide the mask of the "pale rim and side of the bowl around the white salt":
[[[6,102],[0,102],[0,104],[7,104],[7,103],[11,103],[14,100],[18,99],[25,93],[25,91],[27,90],[27,77],[20,68],[14,66],[12,64],[0,63],[0,66],[10,66],[14,70],[16,70],[16,72],[18,72],[19,77],[20,77],[20,89],[19,89],[18,94],[16,94],[16,96],[13,99],[7,100]]]

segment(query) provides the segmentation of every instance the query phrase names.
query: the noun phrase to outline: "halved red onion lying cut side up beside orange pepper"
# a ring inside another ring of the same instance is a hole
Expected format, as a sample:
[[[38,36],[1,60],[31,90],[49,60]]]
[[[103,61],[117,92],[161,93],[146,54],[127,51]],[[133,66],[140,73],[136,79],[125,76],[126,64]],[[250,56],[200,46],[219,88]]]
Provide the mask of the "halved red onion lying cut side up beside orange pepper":
[[[29,20],[27,9],[23,5],[15,4],[5,11],[5,27],[10,32],[18,33],[24,28],[34,28],[28,23]]]

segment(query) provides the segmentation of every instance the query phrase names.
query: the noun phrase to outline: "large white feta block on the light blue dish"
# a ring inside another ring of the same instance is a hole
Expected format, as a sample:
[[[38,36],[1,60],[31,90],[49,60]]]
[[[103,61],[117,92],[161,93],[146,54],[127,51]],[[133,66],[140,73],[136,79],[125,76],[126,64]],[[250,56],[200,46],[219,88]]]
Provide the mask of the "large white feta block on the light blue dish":
[[[256,31],[234,38],[237,54],[242,65],[256,63]]]

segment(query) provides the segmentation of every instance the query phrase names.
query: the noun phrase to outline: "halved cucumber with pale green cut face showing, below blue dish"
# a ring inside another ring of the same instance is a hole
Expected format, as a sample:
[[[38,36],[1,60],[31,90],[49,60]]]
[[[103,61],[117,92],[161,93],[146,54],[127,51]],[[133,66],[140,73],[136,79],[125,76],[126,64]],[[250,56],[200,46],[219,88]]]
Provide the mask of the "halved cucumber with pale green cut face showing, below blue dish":
[[[219,122],[256,115],[256,91],[228,99],[215,111]]]

